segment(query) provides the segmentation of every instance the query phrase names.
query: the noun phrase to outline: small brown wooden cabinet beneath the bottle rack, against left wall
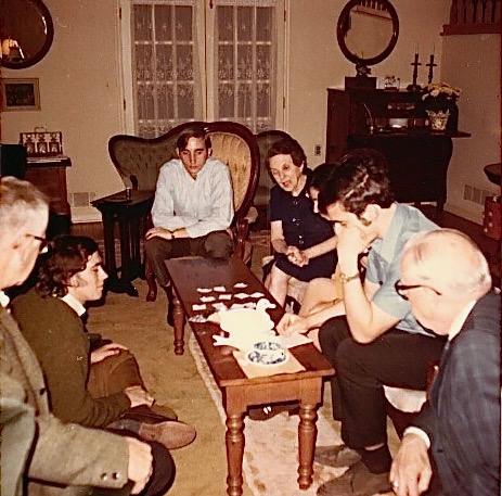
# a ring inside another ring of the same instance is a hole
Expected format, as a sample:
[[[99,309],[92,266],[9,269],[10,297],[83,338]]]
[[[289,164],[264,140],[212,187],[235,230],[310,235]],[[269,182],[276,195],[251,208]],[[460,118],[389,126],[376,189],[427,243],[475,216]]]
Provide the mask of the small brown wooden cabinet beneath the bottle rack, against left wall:
[[[67,156],[28,157],[25,179],[43,191],[51,201],[51,213],[72,217],[66,187]]]

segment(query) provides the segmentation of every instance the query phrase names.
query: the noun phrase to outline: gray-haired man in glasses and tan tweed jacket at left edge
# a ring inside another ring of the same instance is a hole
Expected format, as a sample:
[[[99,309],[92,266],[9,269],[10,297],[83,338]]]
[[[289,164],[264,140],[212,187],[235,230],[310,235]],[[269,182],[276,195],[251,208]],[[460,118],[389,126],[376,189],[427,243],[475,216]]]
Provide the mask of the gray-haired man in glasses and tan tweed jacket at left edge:
[[[65,486],[138,494],[152,474],[151,446],[57,420],[37,358],[9,310],[3,291],[29,276],[47,244],[48,219],[48,202],[33,185],[0,179],[1,494],[61,494]]]

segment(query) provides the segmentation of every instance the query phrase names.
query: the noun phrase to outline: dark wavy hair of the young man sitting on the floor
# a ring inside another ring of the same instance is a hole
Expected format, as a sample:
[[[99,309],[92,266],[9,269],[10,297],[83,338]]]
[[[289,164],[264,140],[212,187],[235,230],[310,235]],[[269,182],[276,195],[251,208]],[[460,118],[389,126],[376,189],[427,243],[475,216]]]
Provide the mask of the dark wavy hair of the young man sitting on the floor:
[[[39,269],[38,293],[43,297],[66,295],[72,276],[85,270],[89,258],[98,251],[98,243],[87,236],[55,238]]]

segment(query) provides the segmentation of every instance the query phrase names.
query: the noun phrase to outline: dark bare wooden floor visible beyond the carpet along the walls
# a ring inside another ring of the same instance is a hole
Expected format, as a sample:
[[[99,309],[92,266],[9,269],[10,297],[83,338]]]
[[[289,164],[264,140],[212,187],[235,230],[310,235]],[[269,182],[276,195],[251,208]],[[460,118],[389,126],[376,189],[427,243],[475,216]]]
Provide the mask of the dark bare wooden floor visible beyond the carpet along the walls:
[[[490,269],[494,283],[500,288],[501,283],[501,244],[498,240],[488,238],[482,232],[482,227],[471,220],[466,220],[456,215],[443,212],[439,218],[436,218],[436,207],[434,205],[423,205],[422,212],[440,227],[458,229],[469,236],[475,243],[481,249],[482,253],[490,263]],[[102,222],[74,224],[70,228],[73,234],[89,236],[95,240],[103,239]],[[118,237],[118,233],[116,234]]]

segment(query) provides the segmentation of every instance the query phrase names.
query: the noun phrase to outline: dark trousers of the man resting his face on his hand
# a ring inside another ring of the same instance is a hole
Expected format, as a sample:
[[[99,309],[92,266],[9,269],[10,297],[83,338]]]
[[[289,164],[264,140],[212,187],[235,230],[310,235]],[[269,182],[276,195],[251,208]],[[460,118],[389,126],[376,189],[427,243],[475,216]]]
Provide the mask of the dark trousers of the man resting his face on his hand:
[[[439,360],[445,338],[390,329],[369,344],[357,343],[347,318],[327,320],[319,332],[322,353],[333,364],[333,416],[342,420],[342,438],[352,449],[387,443],[383,385],[423,390],[427,365]]]

